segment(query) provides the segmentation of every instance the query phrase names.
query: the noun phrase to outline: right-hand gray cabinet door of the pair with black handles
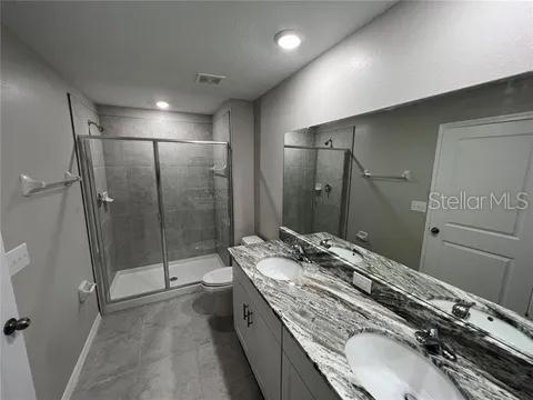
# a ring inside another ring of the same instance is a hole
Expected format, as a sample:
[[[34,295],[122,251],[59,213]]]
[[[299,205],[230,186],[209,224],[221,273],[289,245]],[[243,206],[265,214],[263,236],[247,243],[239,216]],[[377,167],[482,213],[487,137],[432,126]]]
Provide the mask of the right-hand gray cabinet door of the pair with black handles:
[[[264,320],[251,306],[249,338],[253,353],[253,370],[265,400],[280,399],[281,343],[268,328]]]

